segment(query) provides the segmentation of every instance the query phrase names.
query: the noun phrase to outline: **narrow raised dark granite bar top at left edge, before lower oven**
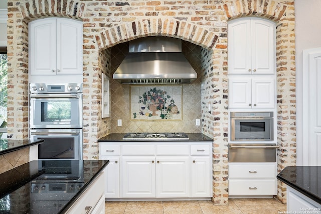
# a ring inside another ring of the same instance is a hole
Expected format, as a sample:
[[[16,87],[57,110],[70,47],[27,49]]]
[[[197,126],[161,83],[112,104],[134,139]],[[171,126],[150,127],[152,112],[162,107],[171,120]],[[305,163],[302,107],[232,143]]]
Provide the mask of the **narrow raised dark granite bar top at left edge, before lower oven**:
[[[0,155],[43,143],[44,140],[10,140],[0,139]]]

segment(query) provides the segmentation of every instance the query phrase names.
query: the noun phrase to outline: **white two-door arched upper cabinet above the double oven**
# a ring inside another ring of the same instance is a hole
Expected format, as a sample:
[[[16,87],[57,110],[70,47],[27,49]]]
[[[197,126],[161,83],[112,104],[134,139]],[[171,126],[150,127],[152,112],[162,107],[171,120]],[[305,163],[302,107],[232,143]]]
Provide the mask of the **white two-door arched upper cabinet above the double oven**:
[[[29,23],[31,75],[82,74],[82,22],[47,18]]]

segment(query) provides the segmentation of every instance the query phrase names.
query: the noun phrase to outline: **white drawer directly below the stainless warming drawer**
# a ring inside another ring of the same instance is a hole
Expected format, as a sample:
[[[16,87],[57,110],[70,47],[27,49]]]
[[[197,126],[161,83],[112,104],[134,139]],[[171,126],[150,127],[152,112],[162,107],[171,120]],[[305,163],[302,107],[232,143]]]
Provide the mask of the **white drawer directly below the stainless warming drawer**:
[[[230,164],[229,178],[275,178],[276,164]]]

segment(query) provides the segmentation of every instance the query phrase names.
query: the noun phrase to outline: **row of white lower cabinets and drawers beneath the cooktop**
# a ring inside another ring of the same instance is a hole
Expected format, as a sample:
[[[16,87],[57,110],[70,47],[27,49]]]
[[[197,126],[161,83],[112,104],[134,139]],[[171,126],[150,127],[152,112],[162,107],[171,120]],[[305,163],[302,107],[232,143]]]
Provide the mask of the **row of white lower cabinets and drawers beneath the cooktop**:
[[[212,142],[99,142],[99,159],[106,198],[212,197]]]

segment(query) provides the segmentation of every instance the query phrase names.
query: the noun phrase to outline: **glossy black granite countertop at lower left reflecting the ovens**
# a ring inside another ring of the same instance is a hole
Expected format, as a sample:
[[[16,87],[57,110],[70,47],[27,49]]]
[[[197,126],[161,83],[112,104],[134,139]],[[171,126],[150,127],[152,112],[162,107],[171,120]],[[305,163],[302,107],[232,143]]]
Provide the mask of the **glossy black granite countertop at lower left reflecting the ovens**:
[[[31,161],[4,172],[0,174],[0,213],[65,213],[108,163]]]

